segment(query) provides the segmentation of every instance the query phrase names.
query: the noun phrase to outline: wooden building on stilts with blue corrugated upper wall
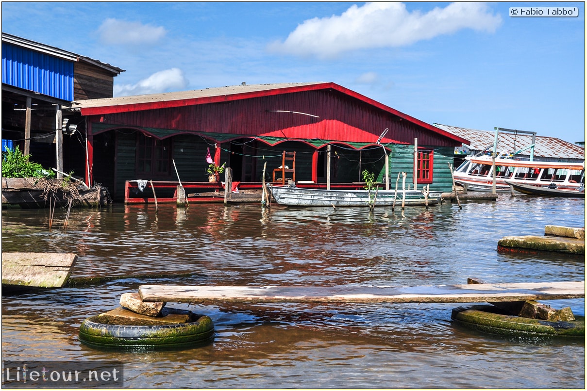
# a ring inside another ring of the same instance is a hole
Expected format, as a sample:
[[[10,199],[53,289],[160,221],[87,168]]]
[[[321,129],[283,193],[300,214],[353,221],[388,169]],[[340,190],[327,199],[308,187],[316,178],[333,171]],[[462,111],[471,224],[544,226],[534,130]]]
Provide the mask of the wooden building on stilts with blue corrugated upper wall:
[[[18,145],[46,168],[83,174],[85,148],[79,145],[85,137],[75,122],[80,117],[67,118],[62,108],[83,99],[112,97],[114,76],[121,72],[89,57],[2,33],[3,150]]]

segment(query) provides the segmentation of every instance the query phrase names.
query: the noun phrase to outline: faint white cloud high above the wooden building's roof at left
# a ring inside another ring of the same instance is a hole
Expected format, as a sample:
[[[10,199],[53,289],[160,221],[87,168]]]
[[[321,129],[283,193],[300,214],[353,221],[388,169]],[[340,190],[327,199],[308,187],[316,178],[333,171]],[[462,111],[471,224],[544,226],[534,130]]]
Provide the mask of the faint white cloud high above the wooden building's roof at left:
[[[139,22],[106,19],[98,28],[100,39],[109,45],[153,45],[163,38],[167,30]]]

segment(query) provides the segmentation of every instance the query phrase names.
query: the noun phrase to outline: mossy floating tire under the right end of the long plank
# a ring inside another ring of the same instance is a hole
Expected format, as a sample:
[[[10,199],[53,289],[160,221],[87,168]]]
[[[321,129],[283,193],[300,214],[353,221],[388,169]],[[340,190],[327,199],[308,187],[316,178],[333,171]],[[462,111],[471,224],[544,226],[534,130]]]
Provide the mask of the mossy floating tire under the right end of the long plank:
[[[575,321],[545,321],[505,315],[494,305],[464,305],[454,308],[451,318],[465,327],[490,334],[585,338],[585,317],[575,317]]]

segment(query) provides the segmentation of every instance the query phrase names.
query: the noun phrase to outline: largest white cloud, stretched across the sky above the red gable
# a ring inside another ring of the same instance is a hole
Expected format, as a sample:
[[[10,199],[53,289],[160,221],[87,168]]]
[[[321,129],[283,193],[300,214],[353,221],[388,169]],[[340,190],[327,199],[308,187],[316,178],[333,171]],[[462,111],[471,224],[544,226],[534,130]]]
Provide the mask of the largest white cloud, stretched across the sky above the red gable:
[[[452,3],[421,13],[408,12],[402,3],[375,2],[352,5],[340,16],[309,19],[269,50],[330,58],[349,50],[406,46],[466,28],[494,32],[500,24],[501,16],[483,3]]]

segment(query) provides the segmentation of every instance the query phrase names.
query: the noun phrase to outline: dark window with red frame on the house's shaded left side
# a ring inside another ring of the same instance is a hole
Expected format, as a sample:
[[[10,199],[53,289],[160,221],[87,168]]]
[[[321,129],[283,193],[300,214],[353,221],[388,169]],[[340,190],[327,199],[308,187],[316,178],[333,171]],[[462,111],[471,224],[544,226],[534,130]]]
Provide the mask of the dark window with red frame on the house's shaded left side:
[[[137,138],[137,175],[165,176],[169,174],[171,141],[157,140],[143,133]]]

